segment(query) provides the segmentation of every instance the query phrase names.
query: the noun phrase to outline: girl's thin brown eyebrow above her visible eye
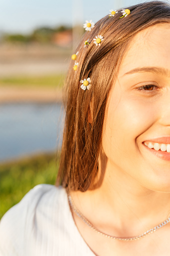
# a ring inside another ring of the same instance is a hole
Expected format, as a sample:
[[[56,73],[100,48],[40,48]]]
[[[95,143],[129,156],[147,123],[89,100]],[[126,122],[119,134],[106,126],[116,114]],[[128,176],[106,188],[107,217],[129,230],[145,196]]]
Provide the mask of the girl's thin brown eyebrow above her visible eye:
[[[170,70],[163,68],[163,67],[138,67],[138,68],[134,68],[134,69],[126,72],[124,75],[140,73],[140,72],[152,72],[152,73],[156,73],[156,74],[170,76]]]

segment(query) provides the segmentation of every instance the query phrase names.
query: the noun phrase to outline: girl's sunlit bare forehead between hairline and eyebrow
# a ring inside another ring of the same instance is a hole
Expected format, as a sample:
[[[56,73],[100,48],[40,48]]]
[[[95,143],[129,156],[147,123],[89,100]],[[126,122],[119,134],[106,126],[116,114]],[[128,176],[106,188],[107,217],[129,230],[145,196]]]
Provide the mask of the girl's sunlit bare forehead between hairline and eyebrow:
[[[159,66],[170,70],[170,24],[154,25],[135,35],[126,50],[119,75],[131,69]]]

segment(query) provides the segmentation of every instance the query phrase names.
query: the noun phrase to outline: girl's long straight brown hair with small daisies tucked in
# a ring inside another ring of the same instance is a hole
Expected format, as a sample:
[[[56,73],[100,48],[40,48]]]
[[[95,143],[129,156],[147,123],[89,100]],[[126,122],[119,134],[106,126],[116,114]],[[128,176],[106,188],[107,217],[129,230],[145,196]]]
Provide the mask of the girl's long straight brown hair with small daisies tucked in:
[[[103,120],[110,88],[113,86],[122,61],[133,37],[141,30],[160,23],[170,23],[170,6],[152,1],[127,7],[130,15],[122,13],[104,17],[86,32],[77,48],[77,70],[74,61],[65,82],[66,118],[61,161],[56,185],[71,190],[93,189],[98,172]],[[103,36],[100,46],[93,38]],[[84,47],[84,41],[89,39]],[[83,91],[80,80],[90,77],[90,90]],[[89,122],[89,113],[92,122]]]

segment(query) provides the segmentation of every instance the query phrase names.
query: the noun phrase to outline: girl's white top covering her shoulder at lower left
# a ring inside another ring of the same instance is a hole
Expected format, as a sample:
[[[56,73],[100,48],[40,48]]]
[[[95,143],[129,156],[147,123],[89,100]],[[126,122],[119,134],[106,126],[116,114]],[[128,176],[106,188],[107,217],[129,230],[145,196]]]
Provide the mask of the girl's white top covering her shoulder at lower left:
[[[38,185],[0,222],[0,256],[94,256],[62,187]]]

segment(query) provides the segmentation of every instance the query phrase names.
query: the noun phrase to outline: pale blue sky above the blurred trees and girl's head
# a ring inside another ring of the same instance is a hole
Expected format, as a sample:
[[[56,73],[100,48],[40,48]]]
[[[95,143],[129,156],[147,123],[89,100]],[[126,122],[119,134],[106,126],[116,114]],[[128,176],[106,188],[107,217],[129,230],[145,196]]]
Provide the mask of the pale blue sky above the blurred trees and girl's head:
[[[30,33],[41,26],[98,21],[110,9],[128,7],[142,0],[0,0],[0,31]]]

